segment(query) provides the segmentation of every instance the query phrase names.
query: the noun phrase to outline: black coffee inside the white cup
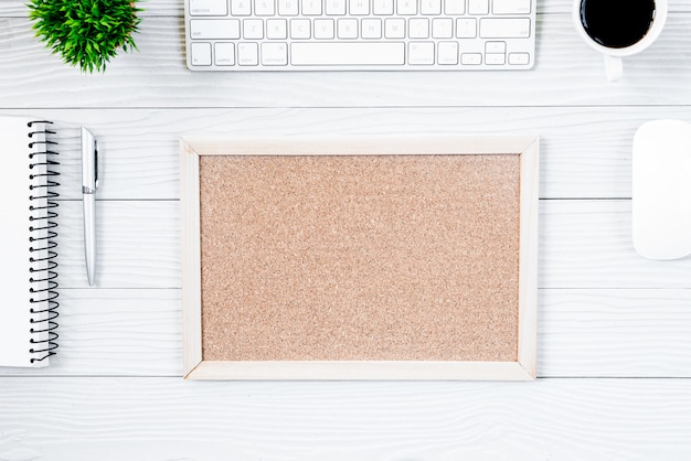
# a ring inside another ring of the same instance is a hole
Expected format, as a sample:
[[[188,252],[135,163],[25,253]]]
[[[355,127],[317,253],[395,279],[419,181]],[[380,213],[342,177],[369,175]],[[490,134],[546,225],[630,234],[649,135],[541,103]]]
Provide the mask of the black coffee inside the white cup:
[[[581,22],[603,46],[623,49],[646,36],[655,18],[655,0],[583,0]]]

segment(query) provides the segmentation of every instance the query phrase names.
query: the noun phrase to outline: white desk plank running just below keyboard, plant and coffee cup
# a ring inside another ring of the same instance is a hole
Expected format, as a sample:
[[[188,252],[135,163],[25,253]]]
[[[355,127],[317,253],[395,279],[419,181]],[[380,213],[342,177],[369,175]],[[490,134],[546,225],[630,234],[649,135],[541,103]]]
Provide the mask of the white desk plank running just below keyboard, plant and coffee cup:
[[[607,82],[602,56],[576,35],[570,14],[543,14],[538,21],[536,64],[529,72],[289,72],[276,78],[270,72],[190,72],[184,64],[183,23],[167,17],[142,22],[137,36],[139,52],[119,55],[105,74],[82,75],[43,49],[28,20],[9,18],[0,28],[0,68],[4,69],[0,98],[7,107],[46,108],[691,103],[687,84],[691,66],[679,53],[691,37],[691,14],[670,14],[660,39],[625,61],[625,78],[617,85]],[[15,65],[18,62],[22,65]],[[424,85],[419,85],[421,75]],[[665,85],[659,84],[659,75],[665,75]]]

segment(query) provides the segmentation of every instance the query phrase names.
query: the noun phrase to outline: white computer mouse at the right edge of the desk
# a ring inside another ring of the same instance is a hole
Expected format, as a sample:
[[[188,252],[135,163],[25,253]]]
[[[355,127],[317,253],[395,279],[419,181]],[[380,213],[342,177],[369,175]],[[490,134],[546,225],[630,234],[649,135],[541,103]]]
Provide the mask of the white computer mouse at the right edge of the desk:
[[[691,255],[691,125],[653,120],[634,137],[631,227],[645,258]]]

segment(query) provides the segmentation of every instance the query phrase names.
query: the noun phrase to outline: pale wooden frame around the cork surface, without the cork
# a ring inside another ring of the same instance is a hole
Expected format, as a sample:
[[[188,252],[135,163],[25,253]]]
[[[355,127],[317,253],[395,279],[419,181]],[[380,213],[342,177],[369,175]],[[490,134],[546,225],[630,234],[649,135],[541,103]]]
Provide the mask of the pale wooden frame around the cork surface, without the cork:
[[[520,157],[518,360],[205,361],[202,356],[200,157],[224,154],[515,154]],[[536,367],[536,137],[333,137],[180,140],[183,374],[194,379],[534,379]]]

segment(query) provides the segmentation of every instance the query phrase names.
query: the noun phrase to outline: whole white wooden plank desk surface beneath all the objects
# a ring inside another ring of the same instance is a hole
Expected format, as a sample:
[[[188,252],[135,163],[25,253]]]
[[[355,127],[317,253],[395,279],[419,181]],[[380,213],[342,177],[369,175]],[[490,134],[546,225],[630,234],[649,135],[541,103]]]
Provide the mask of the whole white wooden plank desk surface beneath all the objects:
[[[691,258],[630,244],[630,150],[691,120],[691,2],[608,84],[568,0],[539,0],[533,71],[191,73],[182,1],[141,6],[139,53],[81,75],[0,3],[0,111],[56,120],[59,355],[0,369],[2,460],[688,460]],[[78,126],[99,139],[98,288],[83,262]],[[178,137],[535,133],[539,379],[205,383],[181,378]],[[11,200],[11,197],[0,197]],[[1,302],[1,301],[0,301]]]

